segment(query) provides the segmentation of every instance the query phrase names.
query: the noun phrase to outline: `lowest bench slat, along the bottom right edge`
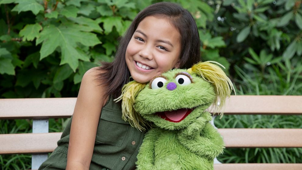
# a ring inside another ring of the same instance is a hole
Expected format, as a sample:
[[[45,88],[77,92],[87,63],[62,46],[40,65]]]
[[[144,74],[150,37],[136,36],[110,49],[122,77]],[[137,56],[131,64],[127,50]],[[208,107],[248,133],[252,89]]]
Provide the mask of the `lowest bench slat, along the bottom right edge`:
[[[302,164],[214,164],[214,170],[301,170]]]

